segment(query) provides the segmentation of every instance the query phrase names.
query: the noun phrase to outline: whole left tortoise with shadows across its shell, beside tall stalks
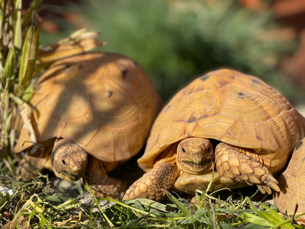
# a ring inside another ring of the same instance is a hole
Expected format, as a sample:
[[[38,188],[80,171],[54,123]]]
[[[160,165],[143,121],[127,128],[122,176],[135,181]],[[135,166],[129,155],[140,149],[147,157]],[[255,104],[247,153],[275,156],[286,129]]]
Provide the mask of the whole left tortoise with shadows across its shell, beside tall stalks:
[[[111,197],[126,189],[107,173],[140,151],[163,106],[139,64],[104,52],[53,63],[38,79],[30,105],[44,152],[28,154],[27,160],[69,181],[85,174],[93,191]],[[14,152],[33,145],[23,125]]]

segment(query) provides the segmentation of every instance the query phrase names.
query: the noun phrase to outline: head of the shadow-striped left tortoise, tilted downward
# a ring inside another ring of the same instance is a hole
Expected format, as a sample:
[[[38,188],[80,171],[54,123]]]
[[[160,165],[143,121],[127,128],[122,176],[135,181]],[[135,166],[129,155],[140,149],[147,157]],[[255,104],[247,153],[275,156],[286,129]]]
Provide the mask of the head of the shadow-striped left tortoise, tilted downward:
[[[86,170],[88,154],[77,144],[64,139],[56,140],[51,161],[56,176],[68,181],[77,181]]]

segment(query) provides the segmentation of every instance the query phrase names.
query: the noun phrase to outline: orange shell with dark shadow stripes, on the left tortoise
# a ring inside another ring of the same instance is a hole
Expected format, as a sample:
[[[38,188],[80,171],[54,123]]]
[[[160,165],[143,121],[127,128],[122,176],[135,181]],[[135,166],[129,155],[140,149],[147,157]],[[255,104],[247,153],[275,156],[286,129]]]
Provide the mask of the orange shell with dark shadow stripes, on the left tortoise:
[[[142,148],[162,101],[139,64],[99,52],[52,64],[36,83],[30,105],[38,142],[72,140],[92,156],[114,162]],[[14,151],[32,146],[30,141],[23,126]]]

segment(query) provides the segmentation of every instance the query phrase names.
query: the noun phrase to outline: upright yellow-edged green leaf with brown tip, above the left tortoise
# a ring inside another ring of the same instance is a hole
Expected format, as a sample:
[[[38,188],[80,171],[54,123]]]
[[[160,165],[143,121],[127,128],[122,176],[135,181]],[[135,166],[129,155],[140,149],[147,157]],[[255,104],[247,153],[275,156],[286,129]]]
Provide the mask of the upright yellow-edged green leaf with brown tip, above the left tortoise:
[[[23,43],[22,57],[19,70],[19,84],[25,88],[31,79],[34,71],[34,64],[37,57],[39,39],[39,16],[33,11],[32,26]]]

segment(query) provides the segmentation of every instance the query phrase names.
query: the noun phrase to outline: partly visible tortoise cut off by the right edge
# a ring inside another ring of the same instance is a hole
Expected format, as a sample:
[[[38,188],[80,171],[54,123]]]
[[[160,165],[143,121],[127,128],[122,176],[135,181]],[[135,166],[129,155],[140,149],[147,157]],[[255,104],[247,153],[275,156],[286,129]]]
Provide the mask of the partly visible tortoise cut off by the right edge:
[[[288,215],[293,215],[296,204],[298,208],[296,214],[305,212],[305,137],[296,145],[287,169],[278,177],[280,191],[273,193],[274,205],[278,210]],[[305,216],[300,216],[296,220],[305,223]]]

